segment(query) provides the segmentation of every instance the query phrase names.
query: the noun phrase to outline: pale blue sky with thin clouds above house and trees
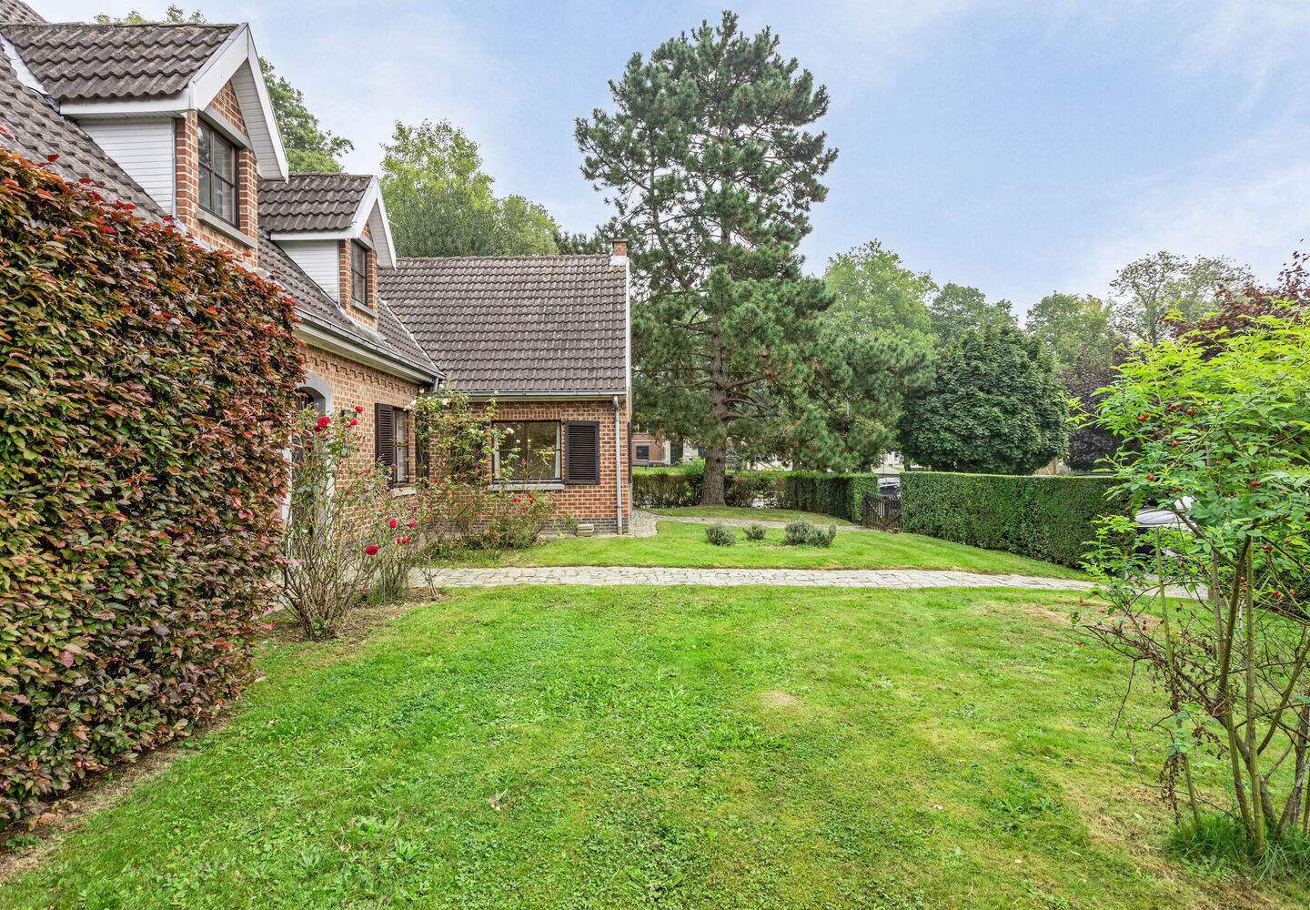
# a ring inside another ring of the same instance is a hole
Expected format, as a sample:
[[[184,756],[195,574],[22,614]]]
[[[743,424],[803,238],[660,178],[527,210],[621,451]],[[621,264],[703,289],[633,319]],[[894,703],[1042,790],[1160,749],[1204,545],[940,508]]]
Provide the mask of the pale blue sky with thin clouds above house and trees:
[[[89,18],[156,0],[31,0]],[[393,121],[448,118],[500,194],[574,231],[605,218],[575,117],[605,81],[722,4],[252,3],[249,21],[304,90],[346,165],[373,172]],[[1051,290],[1104,294],[1146,253],[1227,254],[1272,278],[1310,228],[1310,0],[741,3],[832,96],[841,149],[803,252],[880,239],[939,282],[1024,311]],[[1300,64],[1300,66],[1298,66]]]

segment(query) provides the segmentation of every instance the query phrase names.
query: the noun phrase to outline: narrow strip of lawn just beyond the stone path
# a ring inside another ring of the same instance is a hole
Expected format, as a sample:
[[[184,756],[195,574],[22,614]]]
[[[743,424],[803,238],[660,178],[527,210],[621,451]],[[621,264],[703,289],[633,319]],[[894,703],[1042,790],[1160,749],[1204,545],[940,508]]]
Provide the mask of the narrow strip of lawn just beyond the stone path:
[[[782,528],[769,528],[764,540],[747,540],[738,531],[735,547],[705,540],[705,524],[659,522],[654,538],[563,538],[528,551],[465,553],[476,565],[686,565],[774,566],[793,569],[968,569],[1077,578],[1078,572],[998,549],[925,538],[918,534],[837,531],[832,547],[783,547]]]

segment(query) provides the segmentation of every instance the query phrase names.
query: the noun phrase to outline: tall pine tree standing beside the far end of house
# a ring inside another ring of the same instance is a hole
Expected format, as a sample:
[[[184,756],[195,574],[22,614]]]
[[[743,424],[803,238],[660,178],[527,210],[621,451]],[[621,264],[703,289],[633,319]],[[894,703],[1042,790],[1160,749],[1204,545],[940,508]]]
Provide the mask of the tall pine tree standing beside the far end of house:
[[[836,159],[807,131],[828,90],[724,12],[634,54],[614,110],[576,123],[583,174],[608,191],[642,295],[633,313],[637,420],[706,445],[706,504],[723,502],[730,441],[794,441],[810,413],[832,298],[800,271],[819,178]],[[785,412],[778,401],[787,401]]]

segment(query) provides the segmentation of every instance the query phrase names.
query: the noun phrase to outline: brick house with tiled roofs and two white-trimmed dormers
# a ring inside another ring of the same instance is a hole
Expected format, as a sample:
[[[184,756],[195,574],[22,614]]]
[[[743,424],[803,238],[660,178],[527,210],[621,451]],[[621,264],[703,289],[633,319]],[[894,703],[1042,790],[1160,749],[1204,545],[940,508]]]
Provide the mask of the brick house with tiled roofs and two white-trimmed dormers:
[[[376,177],[290,173],[244,24],[50,24],[0,0],[0,146],[58,156],[64,178],[280,283],[301,320],[301,403],[362,405],[400,493],[417,464],[410,404],[458,388],[494,395],[542,452],[554,426],[558,471],[520,483],[626,530],[626,256],[398,258]],[[532,365],[549,368],[528,380]]]

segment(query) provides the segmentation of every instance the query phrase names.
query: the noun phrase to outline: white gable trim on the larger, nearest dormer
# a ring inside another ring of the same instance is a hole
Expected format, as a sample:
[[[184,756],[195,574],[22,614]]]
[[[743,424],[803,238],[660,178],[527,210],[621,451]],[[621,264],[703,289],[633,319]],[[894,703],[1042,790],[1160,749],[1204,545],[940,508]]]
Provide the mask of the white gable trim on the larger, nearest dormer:
[[[286,180],[290,167],[282,135],[272,115],[272,102],[259,69],[259,54],[254,47],[249,25],[238,25],[219,45],[210,59],[196,69],[186,88],[168,98],[85,101],[60,105],[60,113],[73,119],[111,117],[181,115],[187,110],[204,110],[232,83],[241,117],[245,121],[250,148],[254,149],[257,169],[265,180]]]

